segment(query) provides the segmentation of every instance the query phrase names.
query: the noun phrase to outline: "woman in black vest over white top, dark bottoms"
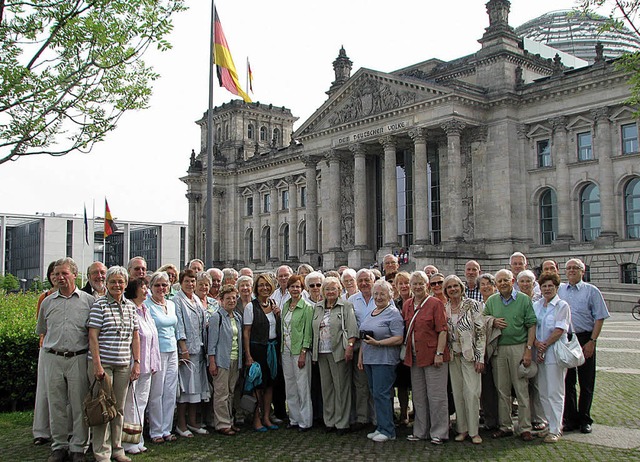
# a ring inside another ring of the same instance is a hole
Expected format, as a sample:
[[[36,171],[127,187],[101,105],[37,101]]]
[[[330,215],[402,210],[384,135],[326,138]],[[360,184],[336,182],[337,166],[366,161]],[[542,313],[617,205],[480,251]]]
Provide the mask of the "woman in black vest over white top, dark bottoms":
[[[257,432],[278,429],[270,417],[281,337],[280,309],[269,298],[275,290],[276,282],[271,274],[258,275],[253,285],[256,298],[245,307],[243,316],[245,366],[250,368],[257,362],[262,371],[262,384],[256,387],[258,406],[253,415],[253,429]]]

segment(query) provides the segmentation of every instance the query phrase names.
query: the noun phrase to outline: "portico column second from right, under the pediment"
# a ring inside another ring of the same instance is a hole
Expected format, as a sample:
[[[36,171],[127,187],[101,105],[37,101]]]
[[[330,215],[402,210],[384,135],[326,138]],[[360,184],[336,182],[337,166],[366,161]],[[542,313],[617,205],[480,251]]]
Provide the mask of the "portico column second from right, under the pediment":
[[[429,184],[427,178],[427,132],[417,128],[409,132],[413,140],[413,241],[426,245],[429,239]]]

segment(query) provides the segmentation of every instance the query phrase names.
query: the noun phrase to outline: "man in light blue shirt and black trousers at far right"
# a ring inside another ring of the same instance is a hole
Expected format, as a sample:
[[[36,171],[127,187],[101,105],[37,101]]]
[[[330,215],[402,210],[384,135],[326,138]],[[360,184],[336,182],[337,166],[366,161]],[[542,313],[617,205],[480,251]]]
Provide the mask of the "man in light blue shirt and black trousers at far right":
[[[567,370],[565,377],[564,431],[577,430],[591,433],[591,403],[596,383],[596,342],[609,310],[602,293],[592,284],[584,282],[585,265],[579,258],[565,264],[566,283],[560,284],[558,296],[571,307],[572,335],[578,336],[585,362],[578,367],[580,399],[576,394],[576,369]]]

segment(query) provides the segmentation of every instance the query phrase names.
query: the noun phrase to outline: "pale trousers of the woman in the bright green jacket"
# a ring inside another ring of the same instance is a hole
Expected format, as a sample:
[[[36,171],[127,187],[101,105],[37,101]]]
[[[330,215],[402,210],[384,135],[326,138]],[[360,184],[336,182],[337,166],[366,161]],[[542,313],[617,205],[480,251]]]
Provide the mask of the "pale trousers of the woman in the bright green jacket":
[[[304,367],[298,367],[300,355],[290,351],[282,353],[282,374],[284,375],[289,420],[292,425],[309,428],[313,425],[313,406],[311,405],[311,358],[305,353]]]

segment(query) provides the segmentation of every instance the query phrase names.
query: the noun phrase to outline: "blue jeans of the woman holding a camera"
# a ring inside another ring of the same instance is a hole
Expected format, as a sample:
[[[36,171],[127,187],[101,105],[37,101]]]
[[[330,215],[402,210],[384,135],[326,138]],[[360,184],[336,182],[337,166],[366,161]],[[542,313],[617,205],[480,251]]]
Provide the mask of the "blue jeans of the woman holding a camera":
[[[396,366],[365,364],[364,370],[369,380],[369,389],[376,408],[378,426],[376,430],[389,438],[395,438],[396,426],[393,423],[393,404],[391,401],[393,382],[396,380]]]

